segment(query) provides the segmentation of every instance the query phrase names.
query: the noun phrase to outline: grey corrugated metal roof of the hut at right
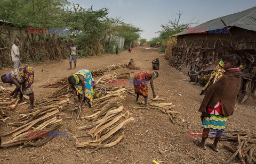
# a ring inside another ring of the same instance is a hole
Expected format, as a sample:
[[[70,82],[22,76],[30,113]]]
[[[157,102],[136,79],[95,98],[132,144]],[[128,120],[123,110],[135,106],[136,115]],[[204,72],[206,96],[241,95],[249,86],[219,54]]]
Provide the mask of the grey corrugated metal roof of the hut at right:
[[[247,10],[244,10],[242,12],[222,16],[220,18],[207,21],[193,28],[196,28],[196,29],[207,28],[207,31],[209,31],[209,28],[214,28],[214,29],[225,28],[225,25],[222,23],[220,19],[222,19],[227,24],[227,27],[235,26],[242,29],[246,29],[246,30],[256,31],[256,6],[249,8]],[[173,37],[180,36],[182,34],[188,34],[188,30],[184,30],[182,32],[174,34]]]

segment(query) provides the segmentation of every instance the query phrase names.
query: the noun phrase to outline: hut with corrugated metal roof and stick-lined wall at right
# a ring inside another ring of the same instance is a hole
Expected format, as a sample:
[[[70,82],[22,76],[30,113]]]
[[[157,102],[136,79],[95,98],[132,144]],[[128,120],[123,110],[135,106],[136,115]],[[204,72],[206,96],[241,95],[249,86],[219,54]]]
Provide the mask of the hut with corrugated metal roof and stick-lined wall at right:
[[[215,30],[213,30],[215,29]],[[238,54],[244,65],[243,87],[238,100],[256,100],[256,6],[222,16],[175,34],[170,65],[182,72],[212,70],[223,55]]]

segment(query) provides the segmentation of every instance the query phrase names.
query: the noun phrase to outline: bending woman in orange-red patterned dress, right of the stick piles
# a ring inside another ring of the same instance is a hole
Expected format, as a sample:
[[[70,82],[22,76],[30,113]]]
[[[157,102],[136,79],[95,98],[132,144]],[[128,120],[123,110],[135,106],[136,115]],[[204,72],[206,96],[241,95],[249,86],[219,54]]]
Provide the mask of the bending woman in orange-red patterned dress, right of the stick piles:
[[[156,97],[153,81],[158,77],[158,72],[143,71],[138,72],[133,77],[134,90],[137,94],[136,102],[139,100],[139,96],[143,96],[145,100],[145,107],[148,106],[148,81],[150,81],[151,89],[153,91],[153,97]]]

